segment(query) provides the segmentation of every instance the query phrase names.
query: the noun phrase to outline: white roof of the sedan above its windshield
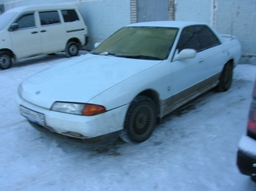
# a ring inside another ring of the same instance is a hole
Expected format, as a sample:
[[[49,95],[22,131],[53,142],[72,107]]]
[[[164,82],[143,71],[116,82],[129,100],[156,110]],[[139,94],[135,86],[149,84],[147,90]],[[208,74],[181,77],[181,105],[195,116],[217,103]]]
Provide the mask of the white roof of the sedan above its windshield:
[[[192,21],[150,21],[143,23],[132,23],[127,26],[148,26],[148,27],[175,27],[184,28],[191,25],[206,25],[206,23],[192,22]]]

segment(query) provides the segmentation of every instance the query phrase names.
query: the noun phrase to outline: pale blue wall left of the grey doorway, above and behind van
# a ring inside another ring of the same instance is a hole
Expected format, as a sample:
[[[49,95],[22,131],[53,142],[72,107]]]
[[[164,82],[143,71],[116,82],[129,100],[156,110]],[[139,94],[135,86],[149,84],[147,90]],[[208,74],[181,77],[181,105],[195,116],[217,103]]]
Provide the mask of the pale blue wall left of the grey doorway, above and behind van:
[[[81,10],[87,22],[89,44],[87,50],[93,48],[97,41],[103,41],[120,27],[130,24],[130,0],[0,0],[5,11],[24,5],[42,4],[75,4]]]

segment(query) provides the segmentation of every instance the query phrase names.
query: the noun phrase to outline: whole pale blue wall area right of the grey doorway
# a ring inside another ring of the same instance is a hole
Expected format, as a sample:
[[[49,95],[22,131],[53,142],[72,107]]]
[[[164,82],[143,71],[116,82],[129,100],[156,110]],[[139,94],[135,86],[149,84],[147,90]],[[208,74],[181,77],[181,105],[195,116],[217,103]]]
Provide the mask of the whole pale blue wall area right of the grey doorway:
[[[211,24],[218,32],[236,35],[242,44],[240,63],[256,64],[255,0],[176,0],[175,20]]]

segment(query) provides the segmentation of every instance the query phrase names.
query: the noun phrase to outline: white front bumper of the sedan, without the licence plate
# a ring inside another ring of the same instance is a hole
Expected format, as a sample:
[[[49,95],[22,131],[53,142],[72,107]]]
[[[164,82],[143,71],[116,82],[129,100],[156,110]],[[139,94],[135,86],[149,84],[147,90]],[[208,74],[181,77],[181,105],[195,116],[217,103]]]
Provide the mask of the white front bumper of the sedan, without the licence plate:
[[[26,102],[17,95],[17,105],[44,114],[45,128],[73,138],[95,138],[123,129],[123,122],[129,105],[95,116],[81,116],[50,111]]]

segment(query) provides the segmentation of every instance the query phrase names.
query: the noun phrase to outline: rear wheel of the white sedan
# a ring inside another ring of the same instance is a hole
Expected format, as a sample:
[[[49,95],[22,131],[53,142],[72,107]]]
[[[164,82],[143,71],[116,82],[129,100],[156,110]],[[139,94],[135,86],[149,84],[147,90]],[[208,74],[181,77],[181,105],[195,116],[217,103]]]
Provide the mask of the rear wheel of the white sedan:
[[[233,65],[230,62],[227,62],[224,65],[223,70],[221,71],[220,81],[217,86],[217,90],[220,92],[225,92],[230,89],[233,78]]]

